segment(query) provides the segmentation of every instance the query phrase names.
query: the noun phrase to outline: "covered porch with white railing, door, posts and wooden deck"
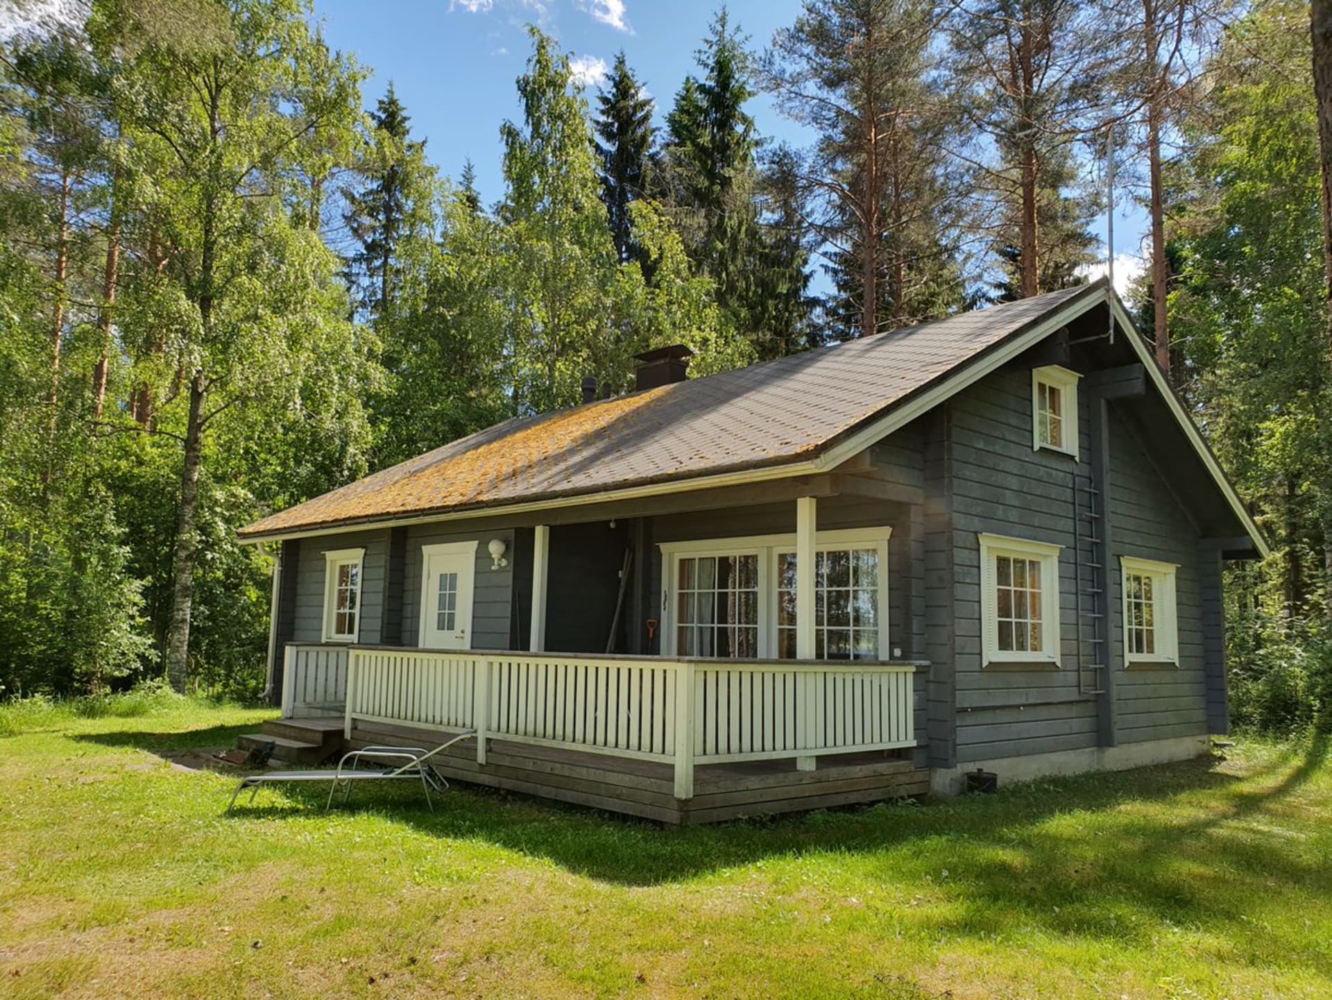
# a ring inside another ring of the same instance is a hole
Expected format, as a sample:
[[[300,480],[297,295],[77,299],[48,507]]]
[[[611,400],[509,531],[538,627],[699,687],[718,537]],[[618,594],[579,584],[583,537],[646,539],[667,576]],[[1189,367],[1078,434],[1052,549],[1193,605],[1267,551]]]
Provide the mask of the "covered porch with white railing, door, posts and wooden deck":
[[[417,644],[282,643],[282,715],[341,718],[350,746],[476,730],[450,778],[669,823],[923,794],[923,514],[918,487],[872,471],[551,511],[470,543],[394,529],[401,562],[420,553],[398,571],[397,635]],[[505,575],[509,648],[469,648],[503,638],[481,602]]]

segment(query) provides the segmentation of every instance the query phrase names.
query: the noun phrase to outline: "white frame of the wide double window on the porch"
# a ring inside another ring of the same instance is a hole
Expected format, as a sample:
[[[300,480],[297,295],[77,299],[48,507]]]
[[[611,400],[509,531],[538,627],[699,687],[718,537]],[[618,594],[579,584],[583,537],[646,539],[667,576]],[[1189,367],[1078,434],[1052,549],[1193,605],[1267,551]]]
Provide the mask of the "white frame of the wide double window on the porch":
[[[888,539],[892,529],[887,525],[874,527],[847,527],[818,531],[814,535],[814,550],[874,546],[879,554],[879,660],[890,660],[892,643],[888,636]],[[738,538],[703,538],[687,542],[659,542],[662,554],[662,655],[674,656],[675,650],[675,582],[679,579],[679,561],[707,555],[754,555],[758,558],[758,656],[761,660],[777,659],[777,605],[778,553],[795,551],[795,535],[746,535]],[[786,660],[783,660],[786,662]]]

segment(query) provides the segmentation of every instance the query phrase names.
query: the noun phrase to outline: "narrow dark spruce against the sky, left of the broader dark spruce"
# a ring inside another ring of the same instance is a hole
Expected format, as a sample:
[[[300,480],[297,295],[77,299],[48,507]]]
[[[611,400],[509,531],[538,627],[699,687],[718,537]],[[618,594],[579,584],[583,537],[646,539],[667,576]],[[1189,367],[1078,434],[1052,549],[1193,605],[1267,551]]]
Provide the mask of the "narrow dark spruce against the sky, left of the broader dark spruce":
[[[653,146],[653,101],[634,79],[625,53],[615,56],[610,79],[597,99],[594,123],[601,154],[601,198],[610,213],[610,232],[622,262],[646,265],[647,254],[633,238],[629,206],[647,192]]]

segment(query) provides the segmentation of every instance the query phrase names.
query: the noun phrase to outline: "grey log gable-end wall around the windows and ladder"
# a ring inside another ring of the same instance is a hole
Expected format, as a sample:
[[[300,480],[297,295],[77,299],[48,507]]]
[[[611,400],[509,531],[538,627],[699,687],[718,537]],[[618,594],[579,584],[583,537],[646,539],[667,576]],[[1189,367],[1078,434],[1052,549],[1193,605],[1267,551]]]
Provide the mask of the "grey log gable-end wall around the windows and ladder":
[[[1111,618],[1107,670],[1114,674],[1114,736],[1098,724],[1098,700],[1079,687],[1079,663],[1104,659],[1091,643],[1092,595],[1088,543],[1091,523],[1075,529],[1075,473],[1091,473],[1091,405],[1079,393],[1079,458],[1032,449],[1031,364],[1015,362],[959,393],[936,417],[939,430],[927,445],[927,621],[931,684],[931,763],[966,766],[1028,754],[1084,750],[1205,735],[1224,715],[1224,678],[1205,663],[1204,611],[1213,609],[1211,655],[1220,655],[1219,558],[1200,549],[1200,533],[1187,506],[1166,483],[1142,442],[1110,407],[1110,587]],[[1100,405],[1099,401],[1095,405]],[[1080,494],[1079,509],[1087,510]],[[1098,506],[1102,506],[1098,503]],[[1063,546],[1059,561],[1060,667],[991,664],[982,667],[980,554],[978,533],[1011,535]],[[951,534],[951,545],[946,543]],[[1080,546],[1075,546],[1075,538]],[[1120,555],[1179,563],[1179,666],[1124,667]],[[1082,562],[1080,571],[1075,559]],[[951,566],[948,565],[951,561]],[[952,578],[950,594],[943,581]],[[1082,578],[1083,625],[1079,630],[1075,581]],[[1079,648],[1079,635],[1083,638]],[[951,650],[950,650],[951,644]],[[951,652],[951,660],[950,660]],[[1079,655],[1082,659],[1079,660]],[[951,662],[951,670],[950,670]],[[952,674],[950,678],[948,674]],[[1216,678],[1208,690],[1207,678]],[[1090,687],[1090,686],[1086,686]],[[950,694],[955,731],[950,732]],[[1220,703],[1220,710],[1216,704]],[[1211,718],[1208,706],[1212,706]]]

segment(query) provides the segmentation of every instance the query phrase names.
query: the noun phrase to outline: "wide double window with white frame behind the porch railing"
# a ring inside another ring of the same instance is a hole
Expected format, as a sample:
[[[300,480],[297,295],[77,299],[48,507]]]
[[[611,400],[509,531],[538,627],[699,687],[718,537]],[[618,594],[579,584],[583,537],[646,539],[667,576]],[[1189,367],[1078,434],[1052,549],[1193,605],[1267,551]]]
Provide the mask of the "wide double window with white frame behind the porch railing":
[[[887,659],[887,527],[819,531],[814,655]],[[663,543],[663,652],[795,658],[795,537]]]

